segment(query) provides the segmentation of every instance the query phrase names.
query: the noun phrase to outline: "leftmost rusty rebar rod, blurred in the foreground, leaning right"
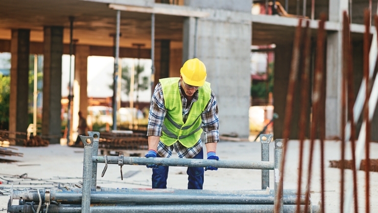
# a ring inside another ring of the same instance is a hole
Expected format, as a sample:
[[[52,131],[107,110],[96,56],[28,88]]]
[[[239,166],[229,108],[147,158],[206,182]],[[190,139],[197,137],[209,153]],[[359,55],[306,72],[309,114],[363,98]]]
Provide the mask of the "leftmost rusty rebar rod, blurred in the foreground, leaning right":
[[[291,58],[290,64],[290,74],[289,74],[289,85],[288,85],[288,92],[286,95],[286,106],[285,106],[285,119],[284,119],[284,131],[282,132],[282,138],[284,138],[284,151],[282,153],[282,163],[280,164],[280,171],[282,175],[280,176],[280,180],[278,181],[278,197],[280,197],[280,191],[283,188],[284,182],[284,171],[285,171],[285,158],[286,158],[286,148],[287,142],[290,137],[290,129],[292,124],[292,116],[293,116],[293,103],[294,103],[294,93],[295,93],[295,86],[297,83],[297,76],[298,76],[298,66],[299,66],[299,56],[300,56],[300,43],[301,43],[301,31],[302,31],[302,19],[298,20],[298,26],[295,31],[295,38],[293,44],[293,53]],[[282,209],[279,209],[280,201],[277,200],[277,205],[274,209],[275,213],[282,212]]]

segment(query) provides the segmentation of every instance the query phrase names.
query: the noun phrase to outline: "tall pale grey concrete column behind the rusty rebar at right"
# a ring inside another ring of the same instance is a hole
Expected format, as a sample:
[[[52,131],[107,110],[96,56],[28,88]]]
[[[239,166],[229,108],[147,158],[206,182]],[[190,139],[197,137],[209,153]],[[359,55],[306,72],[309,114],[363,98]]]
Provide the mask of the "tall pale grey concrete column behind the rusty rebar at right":
[[[341,25],[343,11],[347,9],[347,0],[330,0],[329,21],[340,22]],[[325,136],[340,137],[342,31],[328,32],[326,45]]]

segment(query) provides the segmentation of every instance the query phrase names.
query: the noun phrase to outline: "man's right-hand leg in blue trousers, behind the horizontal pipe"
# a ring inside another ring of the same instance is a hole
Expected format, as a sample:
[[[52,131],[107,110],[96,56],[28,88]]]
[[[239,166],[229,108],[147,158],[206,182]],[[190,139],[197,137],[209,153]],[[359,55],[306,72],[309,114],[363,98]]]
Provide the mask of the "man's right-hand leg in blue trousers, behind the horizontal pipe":
[[[203,150],[198,153],[193,159],[203,159]],[[202,190],[203,186],[203,168],[202,167],[188,167],[186,170],[188,175],[188,190]]]

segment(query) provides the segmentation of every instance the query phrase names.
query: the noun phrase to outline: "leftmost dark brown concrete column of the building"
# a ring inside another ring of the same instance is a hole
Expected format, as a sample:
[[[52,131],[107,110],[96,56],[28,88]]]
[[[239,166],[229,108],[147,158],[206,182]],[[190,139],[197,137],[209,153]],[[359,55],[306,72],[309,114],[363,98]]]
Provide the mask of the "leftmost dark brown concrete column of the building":
[[[11,95],[9,103],[10,131],[26,132],[29,125],[29,40],[30,30],[12,30]]]

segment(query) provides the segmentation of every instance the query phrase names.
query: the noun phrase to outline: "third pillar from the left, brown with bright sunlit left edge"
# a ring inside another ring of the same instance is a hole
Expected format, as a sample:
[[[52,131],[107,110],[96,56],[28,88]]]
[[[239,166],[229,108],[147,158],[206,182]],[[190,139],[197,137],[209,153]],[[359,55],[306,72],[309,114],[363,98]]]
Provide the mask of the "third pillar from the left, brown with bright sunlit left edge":
[[[75,48],[75,79],[74,79],[74,101],[73,101],[73,118],[71,128],[72,141],[76,140],[77,129],[79,125],[79,111],[87,117],[88,111],[88,94],[87,94],[87,75],[88,75],[88,56],[90,48],[88,45],[77,45]],[[98,79],[99,83],[101,79]]]

